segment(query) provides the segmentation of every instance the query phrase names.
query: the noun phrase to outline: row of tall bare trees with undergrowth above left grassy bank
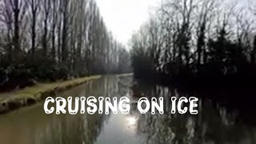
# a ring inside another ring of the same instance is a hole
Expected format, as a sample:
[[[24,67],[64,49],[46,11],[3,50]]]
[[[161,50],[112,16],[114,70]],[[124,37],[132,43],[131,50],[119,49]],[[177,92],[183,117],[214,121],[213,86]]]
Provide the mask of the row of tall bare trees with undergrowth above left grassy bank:
[[[0,91],[129,70],[94,0],[0,0]]]

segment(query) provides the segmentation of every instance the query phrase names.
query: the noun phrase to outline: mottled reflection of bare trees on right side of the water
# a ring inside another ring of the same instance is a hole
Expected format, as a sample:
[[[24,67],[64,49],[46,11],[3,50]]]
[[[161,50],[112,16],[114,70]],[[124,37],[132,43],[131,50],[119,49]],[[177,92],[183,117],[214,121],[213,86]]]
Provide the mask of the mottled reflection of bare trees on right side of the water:
[[[162,86],[134,86],[135,96],[149,97],[197,97],[197,94],[182,93]],[[137,114],[137,132],[146,138],[146,143],[241,143],[254,144],[254,126],[246,126],[238,121],[236,111],[227,111],[209,100],[198,103],[198,115],[170,114],[170,101],[165,101],[165,114]],[[218,108],[217,108],[218,107]],[[252,115],[253,117],[253,115]]]

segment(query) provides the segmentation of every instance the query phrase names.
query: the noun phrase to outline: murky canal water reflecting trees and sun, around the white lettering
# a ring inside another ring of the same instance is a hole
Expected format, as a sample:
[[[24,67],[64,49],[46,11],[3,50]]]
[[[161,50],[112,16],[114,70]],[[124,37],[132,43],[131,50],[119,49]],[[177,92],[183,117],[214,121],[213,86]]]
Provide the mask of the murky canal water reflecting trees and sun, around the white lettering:
[[[59,96],[163,97],[165,114],[140,114],[131,105],[130,114],[44,114],[42,104],[0,116],[1,144],[255,144],[255,126],[238,122],[234,110],[200,100],[198,115],[170,114],[170,97],[190,97],[168,87],[136,84],[132,78],[109,76]],[[132,87],[132,88],[131,88]]]

